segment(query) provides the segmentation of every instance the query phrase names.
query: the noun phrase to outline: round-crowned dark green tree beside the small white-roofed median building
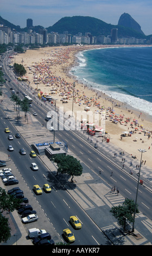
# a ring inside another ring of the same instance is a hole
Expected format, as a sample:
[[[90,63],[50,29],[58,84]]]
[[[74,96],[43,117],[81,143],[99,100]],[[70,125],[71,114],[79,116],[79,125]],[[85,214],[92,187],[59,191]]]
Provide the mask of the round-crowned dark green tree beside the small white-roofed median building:
[[[53,162],[58,166],[58,173],[66,173],[72,175],[71,181],[73,182],[73,176],[80,176],[83,172],[83,167],[80,161],[69,155],[56,155],[53,157]]]

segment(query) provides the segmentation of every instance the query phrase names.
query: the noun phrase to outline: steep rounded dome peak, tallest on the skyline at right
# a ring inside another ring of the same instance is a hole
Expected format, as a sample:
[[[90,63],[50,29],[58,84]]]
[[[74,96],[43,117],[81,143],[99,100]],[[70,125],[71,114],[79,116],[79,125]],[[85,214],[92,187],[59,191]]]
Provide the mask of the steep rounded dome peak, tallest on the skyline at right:
[[[141,30],[141,26],[134,19],[132,19],[132,17],[128,13],[124,13],[121,15],[118,21],[118,26],[134,29],[135,31],[144,35]]]

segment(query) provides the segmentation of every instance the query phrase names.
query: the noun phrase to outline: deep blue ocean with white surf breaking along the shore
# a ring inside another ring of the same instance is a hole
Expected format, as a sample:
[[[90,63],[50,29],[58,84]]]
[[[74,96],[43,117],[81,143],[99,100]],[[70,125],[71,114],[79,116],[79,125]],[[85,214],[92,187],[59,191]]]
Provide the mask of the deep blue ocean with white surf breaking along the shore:
[[[77,54],[71,74],[88,87],[152,116],[152,47],[113,47]]]

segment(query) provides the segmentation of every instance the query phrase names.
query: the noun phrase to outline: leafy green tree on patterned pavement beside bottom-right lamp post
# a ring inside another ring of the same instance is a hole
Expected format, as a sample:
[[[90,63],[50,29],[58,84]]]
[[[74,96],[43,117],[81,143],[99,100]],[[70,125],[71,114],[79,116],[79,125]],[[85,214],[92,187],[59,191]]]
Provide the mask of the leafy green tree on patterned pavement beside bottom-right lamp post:
[[[135,211],[135,202],[132,199],[125,198],[123,205],[113,206],[110,210],[113,216],[117,218],[120,225],[122,225],[124,231],[126,230],[127,221],[133,222]],[[136,214],[139,213],[136,207]]]

